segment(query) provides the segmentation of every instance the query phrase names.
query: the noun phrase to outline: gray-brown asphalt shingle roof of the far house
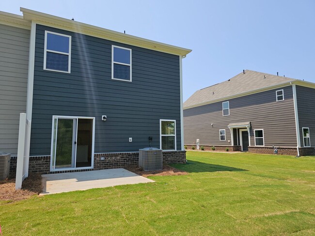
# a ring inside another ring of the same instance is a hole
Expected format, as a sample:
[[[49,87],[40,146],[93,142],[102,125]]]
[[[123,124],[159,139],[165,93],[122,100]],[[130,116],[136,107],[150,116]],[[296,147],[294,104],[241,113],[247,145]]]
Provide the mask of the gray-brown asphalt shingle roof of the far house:
[[[297,79],[245,70],[245,74],[241,72],[227,81],[196,91],[186,100],[183,107],[185,109],[190,106],[197,106],[198,104],[211,103],[211,101],[224,99],[236,94],[276,86],[295,80]]]

